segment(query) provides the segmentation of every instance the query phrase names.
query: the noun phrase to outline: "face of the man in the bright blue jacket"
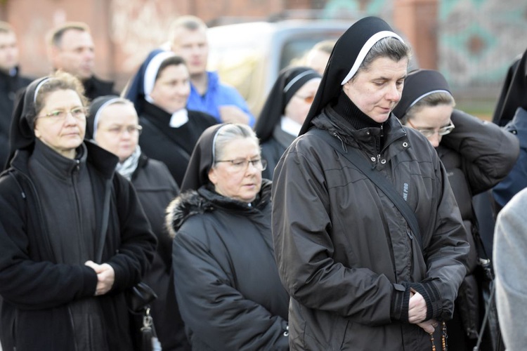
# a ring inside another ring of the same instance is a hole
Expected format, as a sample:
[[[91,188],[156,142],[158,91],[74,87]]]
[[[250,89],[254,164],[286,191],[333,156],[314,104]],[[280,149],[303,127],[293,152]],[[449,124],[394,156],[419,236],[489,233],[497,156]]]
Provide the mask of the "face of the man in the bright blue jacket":
[[[172,51],[186,61],[190,77],[205,72],[207,59],[209,58],[206,29],[190,30],[183,27],[178,28],[171,45]]]

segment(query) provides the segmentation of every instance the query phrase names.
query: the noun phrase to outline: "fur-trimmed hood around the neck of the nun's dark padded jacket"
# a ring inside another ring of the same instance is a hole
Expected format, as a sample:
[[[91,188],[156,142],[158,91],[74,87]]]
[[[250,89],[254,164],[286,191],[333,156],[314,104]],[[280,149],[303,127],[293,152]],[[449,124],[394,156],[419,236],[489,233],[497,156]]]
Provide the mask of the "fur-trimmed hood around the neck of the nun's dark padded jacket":
[[[187,190],[167,206],[167,216],[165,217],[167,231],[170,237],[174,238],[188,218],[197,214],[212,212],[217,208],[223,208],[226,211],[258,211],[261,206],[265,206],[268,201],[271,201],[271,185],[271,180],[261,180],[261,190],[252,202],[252,206],[223,197],[214,192],[211,185],[203,185],[198,190]]]

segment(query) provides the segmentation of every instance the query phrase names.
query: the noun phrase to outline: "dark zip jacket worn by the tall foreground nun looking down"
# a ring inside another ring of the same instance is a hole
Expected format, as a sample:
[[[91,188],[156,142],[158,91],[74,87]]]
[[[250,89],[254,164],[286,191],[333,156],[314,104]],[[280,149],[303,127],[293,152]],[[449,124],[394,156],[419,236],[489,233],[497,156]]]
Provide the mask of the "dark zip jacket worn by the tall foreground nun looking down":
[[[311,122],[337,135],[344,151],[361,150],[393,183],[415,212],[424,252],[369,178],[318,135],[301,135],[278,163],[273,185],[292,349],[429,350],[429,334],[408,324],[408,302],[405,310],[401,301],[408,286],[419,286],[427,317],[449,319],[469,251],[436,150],[393,115],[384,129],[356,130],[326,107]]]

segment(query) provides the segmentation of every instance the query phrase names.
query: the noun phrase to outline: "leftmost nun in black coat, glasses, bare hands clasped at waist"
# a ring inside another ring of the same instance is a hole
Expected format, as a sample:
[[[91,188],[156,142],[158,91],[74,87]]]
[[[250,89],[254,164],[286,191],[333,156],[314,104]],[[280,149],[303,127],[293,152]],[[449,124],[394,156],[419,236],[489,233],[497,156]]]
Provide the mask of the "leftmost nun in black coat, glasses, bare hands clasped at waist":
[[[118,158],[84,140],[81,82],[55,72],[15,105],[0,176],[4,350],[134,350],[125,292],[156,239]]]

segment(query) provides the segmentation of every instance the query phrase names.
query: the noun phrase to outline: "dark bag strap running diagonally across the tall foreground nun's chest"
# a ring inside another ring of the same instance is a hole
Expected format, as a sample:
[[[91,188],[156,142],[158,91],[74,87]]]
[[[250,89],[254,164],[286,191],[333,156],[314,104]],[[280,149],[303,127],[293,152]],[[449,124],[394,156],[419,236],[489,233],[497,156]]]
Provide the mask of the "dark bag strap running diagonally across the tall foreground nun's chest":
[[[358,150],[354,147],[349,147],[347,152],[343,150],[341,144],[337,141],[337,138],[330,135],[329,132],[323,131],[322,129],[318,128],[311,128],[307,134],[313,134],[317,135],[323,140],[326,140],[327,143],[329,143],[334,150],[337,150],[340,154],[342,154],[348,161],[350,161],[352,164],[354,164],[361,172],[364,173],[367,178],[370,178],[370,180],[377,185],[377,187],[386,194],[386,196],[393,202],[393,204],[397,207],[399,212],[403,215],[406,222],[408,223],[408,226],[410,227],[410,230],[414,233],[415,239],[417,239],[417,244],[419,244],[419,248],[423,251],[423,241],[421,237],[421,231],[419,230],[419,223],[417,223],[417,218],[415,217],[414,211],[412,211],[412,208],[408,205],[408,203],[401,197],[401,194],[398,194],[396,190],[393,188],[393,185],[389,182],[389,180],[382,175],[382,173],[378,171],[374,171],[371,164],[365,160],[365,158],[358,153]]]

